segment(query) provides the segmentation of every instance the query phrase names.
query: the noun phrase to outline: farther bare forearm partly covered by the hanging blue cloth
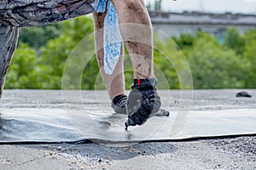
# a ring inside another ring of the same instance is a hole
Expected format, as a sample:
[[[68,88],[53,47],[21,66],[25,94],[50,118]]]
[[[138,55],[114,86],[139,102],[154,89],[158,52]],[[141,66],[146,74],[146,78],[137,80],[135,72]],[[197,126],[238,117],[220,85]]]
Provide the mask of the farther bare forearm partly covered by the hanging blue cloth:
[[[96,43],[96,58],[101,71],[102,79],[108,90],[110,99],[113,99],[119,94],[125,94],[125,77],[124,77],[124,46],[122,46],[119,61],[112,75],[107,75],[104,71],[104,45],[103,45],[103,27],[104,19],[107,13],[94,13],[95,26],[95,43]]]

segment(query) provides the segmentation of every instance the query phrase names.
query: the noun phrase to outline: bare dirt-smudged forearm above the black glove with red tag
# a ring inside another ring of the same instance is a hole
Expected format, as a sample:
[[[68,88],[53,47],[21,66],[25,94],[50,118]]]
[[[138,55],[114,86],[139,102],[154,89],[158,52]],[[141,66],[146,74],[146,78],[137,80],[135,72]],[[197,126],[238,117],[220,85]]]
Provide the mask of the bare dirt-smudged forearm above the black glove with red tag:
[[[154,77],[151,22],[143,0],[112,0],[112,2],[119,16],[120,32],[125,40],[125,47],[131,57],[134,78]],[[126,23],[143,26],[122,26]]]

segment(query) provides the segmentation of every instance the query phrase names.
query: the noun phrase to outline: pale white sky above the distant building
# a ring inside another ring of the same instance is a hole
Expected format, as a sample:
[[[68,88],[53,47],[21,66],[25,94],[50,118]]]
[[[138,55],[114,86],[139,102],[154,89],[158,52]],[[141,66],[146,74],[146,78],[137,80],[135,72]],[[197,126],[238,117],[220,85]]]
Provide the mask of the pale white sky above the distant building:
[[[144,0],[146,4],[154,4],[154,0]],[[195,10],[215,13],[256,14],[256,0],[162,0],[165,11],[182,12]]]

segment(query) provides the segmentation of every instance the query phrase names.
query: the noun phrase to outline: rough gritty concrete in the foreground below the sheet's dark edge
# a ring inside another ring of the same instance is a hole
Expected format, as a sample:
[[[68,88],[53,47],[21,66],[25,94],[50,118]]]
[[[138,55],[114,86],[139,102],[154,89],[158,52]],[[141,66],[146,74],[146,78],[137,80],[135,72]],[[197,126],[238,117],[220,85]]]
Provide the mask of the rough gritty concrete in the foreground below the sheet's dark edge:
[[[246,143],[246,144],[245,144]],[[256,138],[0,147],[1,169],[255,169]],[[4,163],[9,162],[9,163]]]

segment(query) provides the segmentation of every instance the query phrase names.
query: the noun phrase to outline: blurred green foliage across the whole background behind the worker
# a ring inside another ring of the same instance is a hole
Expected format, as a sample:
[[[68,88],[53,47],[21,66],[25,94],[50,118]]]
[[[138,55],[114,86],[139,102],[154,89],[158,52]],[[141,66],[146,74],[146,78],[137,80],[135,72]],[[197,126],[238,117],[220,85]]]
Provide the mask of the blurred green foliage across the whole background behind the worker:
[[[104,88],[90,17],[22,31],[5,88],[60,89],[62,79],[65,88]],[[183,70],[184,55],[194,88],[255,88],[256,30],[240,35],[232,27],[224,36],[224,44],[202,31],[173,40],[154,38],[154,72],[159,88],[181,88],[177,71]],[[62,77],[63,71],[67,71],[67,77]],[[125,56],[126,88],[131,87],[132,79],[131,60]]]

